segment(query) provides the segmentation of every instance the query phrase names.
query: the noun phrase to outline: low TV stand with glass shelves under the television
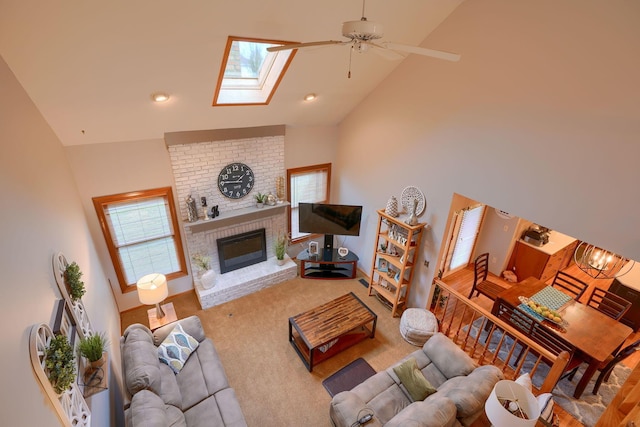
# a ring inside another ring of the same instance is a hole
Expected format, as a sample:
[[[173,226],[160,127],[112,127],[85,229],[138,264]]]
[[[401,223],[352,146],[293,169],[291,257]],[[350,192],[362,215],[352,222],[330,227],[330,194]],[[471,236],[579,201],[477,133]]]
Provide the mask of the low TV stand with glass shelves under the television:
[[[330,258],[327,259],[327,254]],[[349,252],[346,256],[338,255],[337,249],[321,255],[310,255],[307,249],[298,254],[300,261],[300,277],[303,279],[355,279],[358,256]]]

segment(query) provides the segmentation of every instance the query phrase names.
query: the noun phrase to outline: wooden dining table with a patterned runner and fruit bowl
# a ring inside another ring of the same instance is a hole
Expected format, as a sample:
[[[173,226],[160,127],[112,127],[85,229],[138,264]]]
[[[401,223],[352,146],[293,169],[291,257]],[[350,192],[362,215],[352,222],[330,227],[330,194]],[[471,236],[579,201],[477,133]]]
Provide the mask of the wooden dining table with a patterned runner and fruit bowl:
[[[531,298],[540,295],[543,290],[548,293],[548,287],[549,285],[535,277],[528,277],[515,283],[511,288],[497,295],[492,313],[497,313],[500,303],[514,309],[518,308],[522,304],[523,297]],[[558,292],[561,291],[558,290]],[[535,298],[533,300],[535,301]],[[524,306],[521,306],[521,309],[527,311]],[[548,320],[539,321],[572,345],[580,353],[578,356],[587,363],[587,368],[573,393],[573,397],[579,399],[598,368],[609,356],[620,349],[633,331],[595,308],[572,298],[569,298],[556,311],[562,317],[560,324]]]

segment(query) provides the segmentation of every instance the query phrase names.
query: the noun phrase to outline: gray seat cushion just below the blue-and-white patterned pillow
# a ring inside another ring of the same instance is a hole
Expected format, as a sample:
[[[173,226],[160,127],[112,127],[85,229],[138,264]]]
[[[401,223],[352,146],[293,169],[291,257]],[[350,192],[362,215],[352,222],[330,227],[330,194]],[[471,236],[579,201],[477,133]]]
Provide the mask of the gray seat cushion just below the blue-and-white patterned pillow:
[[[205,339],[176,374],[182,395],[182,409],[187,410],[207,397],[228,388],[229,381],[210,339]]]

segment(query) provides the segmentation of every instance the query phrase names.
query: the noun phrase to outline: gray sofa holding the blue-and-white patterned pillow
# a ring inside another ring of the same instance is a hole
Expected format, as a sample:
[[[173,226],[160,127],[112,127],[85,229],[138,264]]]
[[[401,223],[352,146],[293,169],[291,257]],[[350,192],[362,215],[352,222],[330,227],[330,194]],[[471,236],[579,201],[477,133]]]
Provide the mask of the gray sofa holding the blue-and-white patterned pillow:
[[[158,346],[176,323],[154,332],[131,325],[121,337],[127,426],[245,427],[235,392],[200,319],[191,316],[177,323],[198,341],[177,374],[158,358]]]

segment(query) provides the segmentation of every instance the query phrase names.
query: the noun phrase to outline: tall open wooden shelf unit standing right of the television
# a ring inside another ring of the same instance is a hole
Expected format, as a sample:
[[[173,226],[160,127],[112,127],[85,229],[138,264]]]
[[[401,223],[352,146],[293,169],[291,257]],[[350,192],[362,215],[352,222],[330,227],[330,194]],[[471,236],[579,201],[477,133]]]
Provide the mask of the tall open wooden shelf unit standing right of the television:
[[[379,295],[391,305],[391,315],[405,305],[418,258],[425,223],[408,225],[378,211],[378,231],[373,248],[369,295]]]

